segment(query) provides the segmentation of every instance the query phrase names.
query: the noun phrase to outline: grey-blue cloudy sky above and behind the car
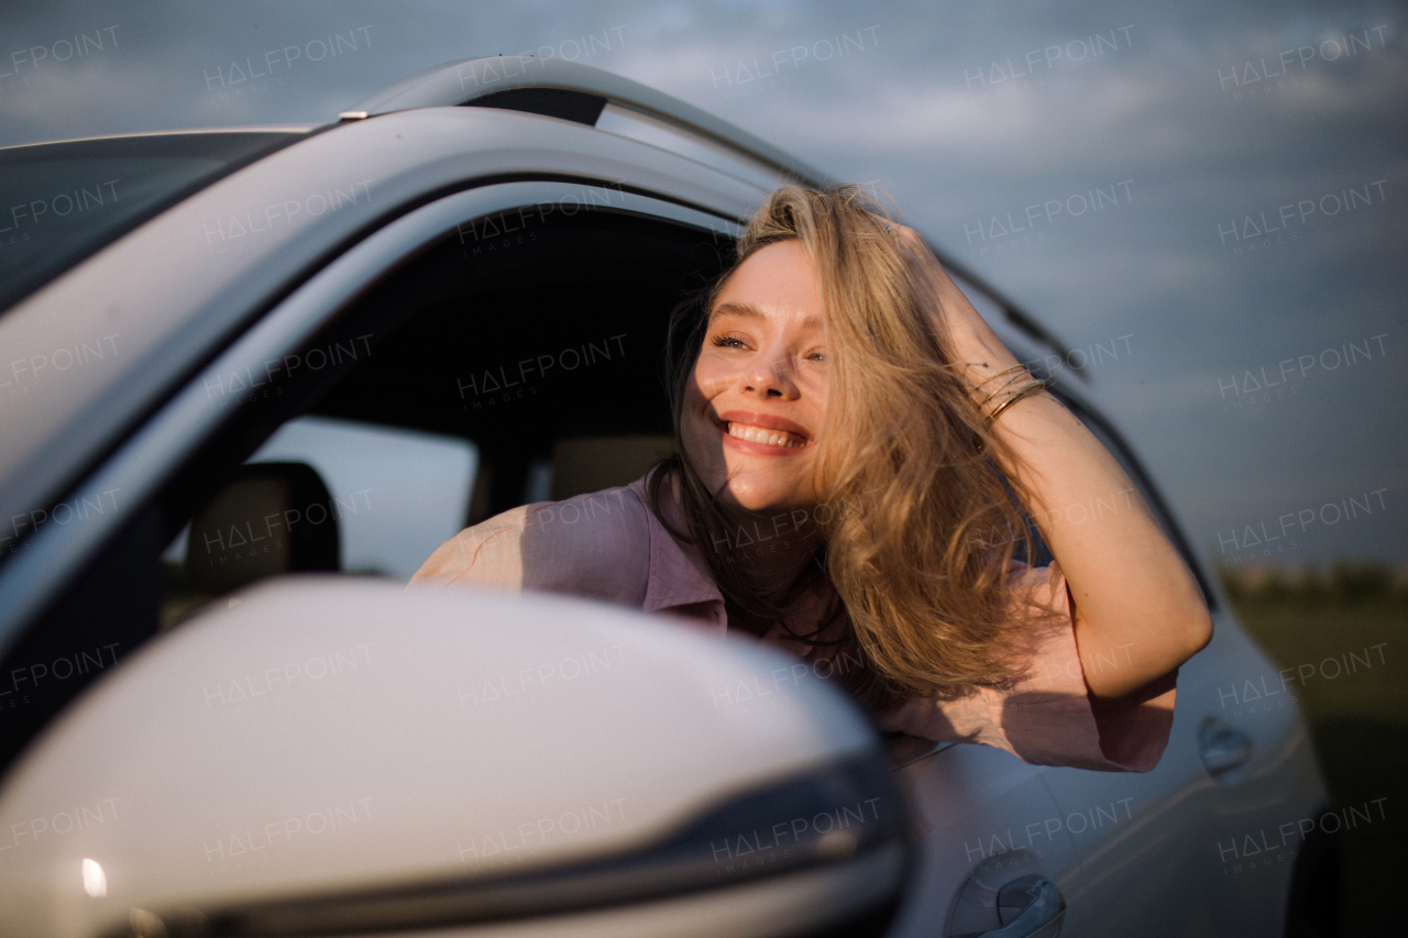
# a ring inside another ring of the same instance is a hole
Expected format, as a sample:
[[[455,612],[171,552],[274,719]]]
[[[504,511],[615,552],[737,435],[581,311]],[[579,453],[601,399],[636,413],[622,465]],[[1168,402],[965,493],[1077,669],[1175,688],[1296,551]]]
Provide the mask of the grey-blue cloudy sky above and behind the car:
[[[1405,20],[1353,1],[11,0],[0,145],[321,123],[441,62],[576,58],[884,187],[1069,345],[1128,337],[1090,386],[1212,555],[1250,559],[1246,525],[1293,514],[1260,559],[1401,563]],[[1371,511],[1326,507],[1352,497]]]

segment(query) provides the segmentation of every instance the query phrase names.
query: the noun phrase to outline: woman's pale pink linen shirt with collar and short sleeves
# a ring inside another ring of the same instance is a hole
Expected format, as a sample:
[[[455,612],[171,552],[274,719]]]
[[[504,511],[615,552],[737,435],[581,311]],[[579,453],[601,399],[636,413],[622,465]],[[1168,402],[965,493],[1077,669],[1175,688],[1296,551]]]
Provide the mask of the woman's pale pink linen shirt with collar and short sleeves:
[[[670,521],[683,528],[677,514],[672,513]],[[521,506],[466,528],[442,544],[411,583],[589,596],[683,615],[719,635],[728,630],[718,586],[698,552],[677,541],[650,511],[643,479],[565,501]],[[1152,769],[1169,742],[1177,669],[1119,700],[1093,699],[1059,566],[1015,563],[1011,583],[1062,611],[1041,625],[1019,677],[998,687],[979,686],[977,693],[957,700],[905,700],[873,713],[876,725],[938,742],[997,746],[1033,765]],[[780,627],[762,641],[811,662],[817,673],[825,673],[821,659],[836,654],[835,646],[808,645]]]

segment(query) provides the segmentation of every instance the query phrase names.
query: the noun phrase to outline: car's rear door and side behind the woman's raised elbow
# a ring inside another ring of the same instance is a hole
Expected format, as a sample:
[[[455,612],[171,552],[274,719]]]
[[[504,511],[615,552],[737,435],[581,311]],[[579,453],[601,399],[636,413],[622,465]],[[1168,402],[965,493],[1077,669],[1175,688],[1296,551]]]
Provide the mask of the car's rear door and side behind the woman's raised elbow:
[[[1007,304],[972,282],[957,282],[1028,368],[1049,375],[1052,362],[1060,368],[1076,361],[1049,334],[1046,345],[1059,355],[1032,348],[1039,328],[1012,328],[1012,317],[1004,315]],[[1073,927],[1081,923],[1080,934],[1093,935],[1281,935],[1288,893],[1338,889],[1333,866],[1321,862],[1324,845],[1291,835],[1286,849],[1273,852],[1246,842],[1263,831],[1276,841],[1284,824],[1297,831],[1302,818],[1328,801],[1294,694],[1284,693],[1276,669],[1247,641],[1156,476],[1090,401],[1090,375],[1071,365],[1056,377],[1055,393],[1139,487],[1198,579],[1214,617],[1212,642],[1178,670],[1174,725],[1153,770],[1036,769],[1074,842],[1088,887],[1084,900],[1071,904]],[[1253,868],[1245,852],[1271,862]],[[1302,855],[1314,870],[1293,870]]]

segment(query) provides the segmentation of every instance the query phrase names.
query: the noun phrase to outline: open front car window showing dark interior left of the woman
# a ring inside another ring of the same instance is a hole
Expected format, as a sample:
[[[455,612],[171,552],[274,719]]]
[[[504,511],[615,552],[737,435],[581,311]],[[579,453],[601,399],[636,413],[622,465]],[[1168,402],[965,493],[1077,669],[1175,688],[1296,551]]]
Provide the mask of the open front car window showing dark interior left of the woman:
[[[538,221],[462,224],[308,344],[360,352],[201,496],[163,552],[161,628],[280,573],[407,580],[469,524],[672,452],[658,361],[670,308],[718,268],[712,235],[600,210]]]

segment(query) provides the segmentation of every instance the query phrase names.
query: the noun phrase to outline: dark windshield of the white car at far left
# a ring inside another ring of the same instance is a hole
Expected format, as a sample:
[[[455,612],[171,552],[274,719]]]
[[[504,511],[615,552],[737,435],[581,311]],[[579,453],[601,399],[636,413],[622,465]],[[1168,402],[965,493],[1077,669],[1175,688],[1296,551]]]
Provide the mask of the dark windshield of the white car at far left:
[[[298,131],[201,131],[0,149],[0,310]]]

